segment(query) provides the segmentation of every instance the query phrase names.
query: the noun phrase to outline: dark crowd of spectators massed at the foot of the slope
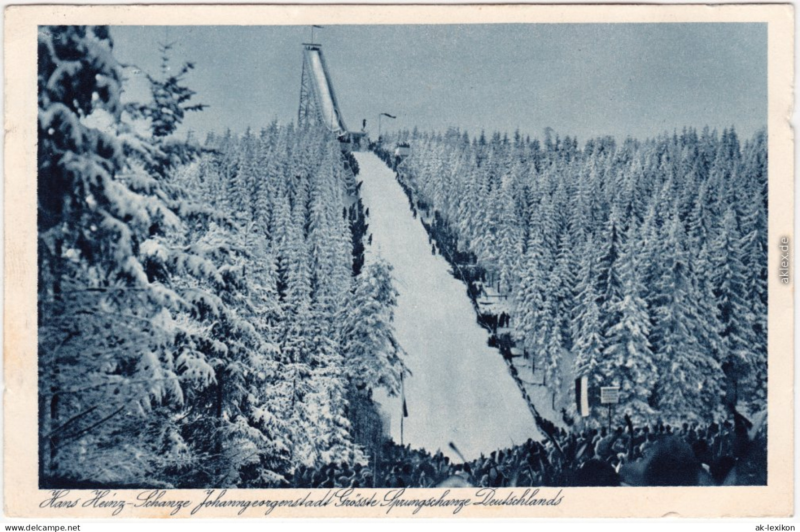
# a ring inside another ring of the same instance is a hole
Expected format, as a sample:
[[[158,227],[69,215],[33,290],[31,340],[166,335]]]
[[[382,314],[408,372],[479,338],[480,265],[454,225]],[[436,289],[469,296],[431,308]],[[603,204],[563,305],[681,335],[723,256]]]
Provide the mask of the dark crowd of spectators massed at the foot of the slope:
[[[541,420],[540,420],[541,421]],[[462,462],[387,442],[375,466],[300,467],[291,487],[719,486],[766,484],[766,423],[657,423],[566,431]],[[454,452],[458,453],[458,451]]]

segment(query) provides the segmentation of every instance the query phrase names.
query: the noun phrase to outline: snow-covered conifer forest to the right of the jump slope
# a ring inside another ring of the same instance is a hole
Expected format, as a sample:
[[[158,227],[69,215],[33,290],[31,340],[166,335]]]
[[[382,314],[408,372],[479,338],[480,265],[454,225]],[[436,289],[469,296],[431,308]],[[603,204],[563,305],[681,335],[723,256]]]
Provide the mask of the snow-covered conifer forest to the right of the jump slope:
[[[513,300],[553,394],[574,405],[580,376],[619,386],[638,421],[765,407],[766,133],[394,140],[451,256]]]

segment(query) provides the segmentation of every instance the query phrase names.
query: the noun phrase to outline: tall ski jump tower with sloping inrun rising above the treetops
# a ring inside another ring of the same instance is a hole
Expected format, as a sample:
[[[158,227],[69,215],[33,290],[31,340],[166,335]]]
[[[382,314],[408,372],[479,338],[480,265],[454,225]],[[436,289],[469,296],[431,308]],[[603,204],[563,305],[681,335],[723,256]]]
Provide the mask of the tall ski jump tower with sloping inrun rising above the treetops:
[[[322,55],[322,45],[302,44],[302,78],[298,125],[324,125],[342,143],[342,149],[361,149],[366,145],[366,131],[348,131],[330,82],[330,74]]]

